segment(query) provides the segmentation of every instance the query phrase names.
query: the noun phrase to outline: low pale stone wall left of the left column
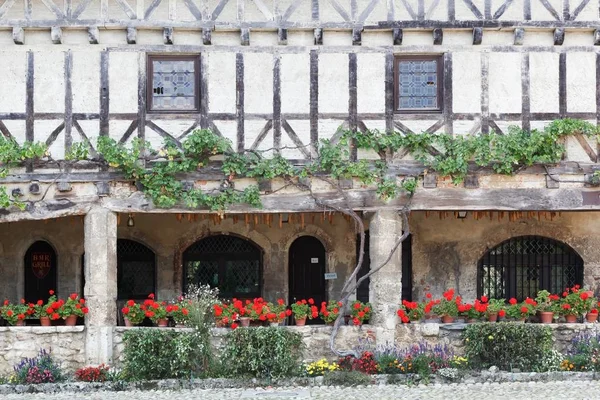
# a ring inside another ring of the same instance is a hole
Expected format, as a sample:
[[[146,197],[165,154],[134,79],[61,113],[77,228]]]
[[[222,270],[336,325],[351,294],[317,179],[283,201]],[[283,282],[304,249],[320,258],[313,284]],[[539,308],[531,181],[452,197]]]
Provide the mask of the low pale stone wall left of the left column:
[[[0,327],[0,375],[10,374],[15,364],[40,349],[51,351],[64,370],[73,372],[85,365],[84,327]]]

